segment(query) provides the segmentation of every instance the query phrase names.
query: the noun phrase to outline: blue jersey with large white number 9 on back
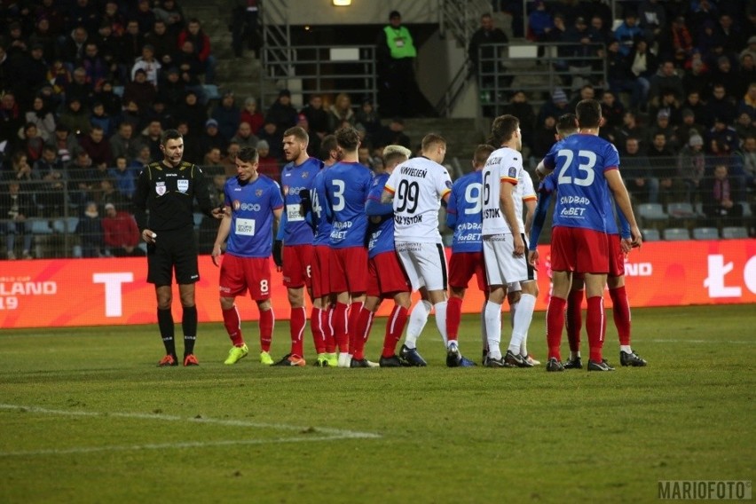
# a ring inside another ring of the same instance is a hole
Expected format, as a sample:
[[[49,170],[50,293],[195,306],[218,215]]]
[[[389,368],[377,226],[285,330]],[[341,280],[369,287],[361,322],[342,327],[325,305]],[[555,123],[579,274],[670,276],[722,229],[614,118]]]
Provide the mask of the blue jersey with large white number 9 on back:
[[[483,171],[473,171],[458,178],[452,185],[446,212],[456,217],[452,252],[480,252],[482,217],[480,212],[480,191],[483,187]]]

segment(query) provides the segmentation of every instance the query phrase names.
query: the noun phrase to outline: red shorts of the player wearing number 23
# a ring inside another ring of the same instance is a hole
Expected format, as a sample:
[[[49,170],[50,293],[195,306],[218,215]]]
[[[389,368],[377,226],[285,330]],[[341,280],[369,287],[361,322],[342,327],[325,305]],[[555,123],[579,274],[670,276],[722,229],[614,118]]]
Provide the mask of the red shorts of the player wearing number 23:
[[[609,240],[606,233],[556,226],[551,232],[551,269],[555,272],[609,272]]]

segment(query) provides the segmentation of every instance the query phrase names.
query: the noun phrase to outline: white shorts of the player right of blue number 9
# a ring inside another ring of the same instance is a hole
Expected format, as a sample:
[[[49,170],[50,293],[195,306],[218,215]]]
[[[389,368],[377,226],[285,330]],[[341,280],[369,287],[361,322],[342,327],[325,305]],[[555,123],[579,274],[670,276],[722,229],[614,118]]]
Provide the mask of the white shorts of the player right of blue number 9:
[[[528,249],[525,235],[521,235]],[[515,243],[511,234],[490,234],[483,237],[483,260],[488,285],[508,286],[516,282],[535,280],[535,272],[528,264],[527,254],[515,256]],[[514,286],[513,286],[514,287]],[[512,290],[515,290],[512,288]]]

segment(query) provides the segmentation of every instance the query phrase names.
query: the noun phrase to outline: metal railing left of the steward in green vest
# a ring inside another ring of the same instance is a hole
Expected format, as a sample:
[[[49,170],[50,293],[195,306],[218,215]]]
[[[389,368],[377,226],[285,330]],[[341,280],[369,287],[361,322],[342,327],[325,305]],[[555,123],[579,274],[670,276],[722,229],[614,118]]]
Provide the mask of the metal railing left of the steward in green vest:
[[[301,82],[304,93],[347,93],[353,98],[378,97],[377,69],[374,45],[322,46],[292,45],[278,48],[289,55],[287,76],[264,75],[262,78],[279,81],[295,79]],[[265,89],[264,86],[262,86]],[[263,93],[264,103],[276,98],[272,92]]]

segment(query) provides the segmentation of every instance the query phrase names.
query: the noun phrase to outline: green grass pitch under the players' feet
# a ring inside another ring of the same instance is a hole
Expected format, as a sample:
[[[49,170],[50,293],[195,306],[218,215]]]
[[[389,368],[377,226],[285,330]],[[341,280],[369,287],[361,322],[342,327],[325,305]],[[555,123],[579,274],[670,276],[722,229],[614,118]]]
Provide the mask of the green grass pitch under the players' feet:
[[[156,326],[5,330],[0,502],[645,502],[658,480],[752,479],[753,306],[633,315],[650,366],[618,366],[609,318],[610,374],[449,369],[432,319],[429,366],[407,369],[262,366],[253,323],[236,366],[201,326],[193,368],[155,366]],[[478,324],[461,328],[476,361]],[[545,364],[543,313],[529,347]]]

